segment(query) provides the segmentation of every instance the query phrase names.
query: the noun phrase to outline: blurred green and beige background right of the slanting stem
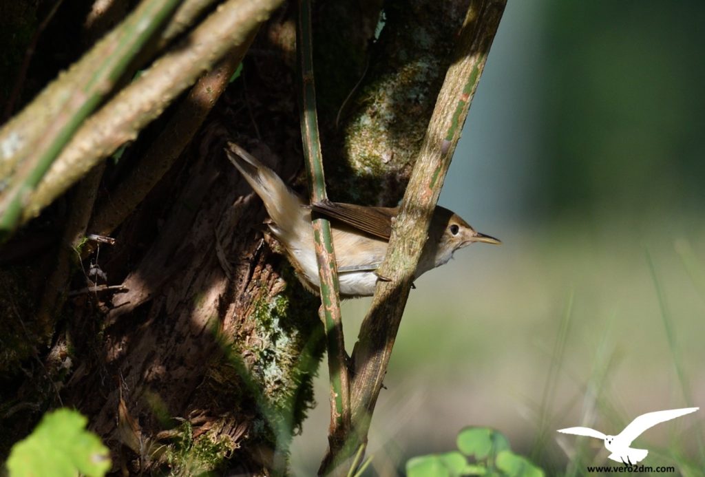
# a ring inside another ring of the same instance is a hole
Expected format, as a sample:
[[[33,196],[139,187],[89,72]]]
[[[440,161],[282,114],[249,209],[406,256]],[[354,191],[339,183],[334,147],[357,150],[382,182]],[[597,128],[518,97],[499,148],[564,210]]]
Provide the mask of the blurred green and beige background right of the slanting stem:
[[[701,0],[508,1],[440,200],[504,244],[417,280],[373,473],[473,425],[562,475],[580,441],[556,429],[616,434],[705,402],[703,25]],[[349,352],[368,304],[345,303]],[[327,445],[327,378],[292,449],[300,475]],[[704,412],[642,435],[643,463],[703,469]]]

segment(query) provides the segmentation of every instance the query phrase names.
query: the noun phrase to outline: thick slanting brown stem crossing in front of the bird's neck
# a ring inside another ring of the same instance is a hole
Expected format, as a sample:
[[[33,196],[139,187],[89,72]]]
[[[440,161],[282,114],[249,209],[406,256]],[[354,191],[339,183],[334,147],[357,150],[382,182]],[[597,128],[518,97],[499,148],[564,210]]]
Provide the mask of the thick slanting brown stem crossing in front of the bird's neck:
[[[353,351],[353,445],[331,449],[324,459],[328,469],[349,459],[357,445],[367,442],[382,380],[399,328],[414,271],[427,239],[431,215],[438,201],[450,160],[460,140],[462,125],[487,54],[496,35],[505,0],[473,0],[460,30],[452,66],[439,93],[412,176],[404,194],[387,255],[379,275],[390,281],[377,284],[372,306],[360,328]]]

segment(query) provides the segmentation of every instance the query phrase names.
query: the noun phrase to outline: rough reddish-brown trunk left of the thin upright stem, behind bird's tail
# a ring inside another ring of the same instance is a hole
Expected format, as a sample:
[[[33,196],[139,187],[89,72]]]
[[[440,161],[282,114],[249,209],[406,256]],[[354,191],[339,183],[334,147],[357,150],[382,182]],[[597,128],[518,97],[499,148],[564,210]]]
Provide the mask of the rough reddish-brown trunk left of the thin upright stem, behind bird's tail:
[[[1,347],[5,452],[44,409],[65,405],[88,416],[111,448],[114,471],[271,473],[286,465],[288,442],[313,402],[311,379],[323,352],[317,298],[264,244],[262,204],[225,159],[223,145],[246,144],[284,178],[298,172],[300,132],[287,64],[293,50],[272,41],[291,15],[280,11],[263,29],[243,77],[116,230],[116,244],[101,244],[84,262],[85,273],[93,264],[125,291],[72,295],[47,352],[32,349],[42,342],[35,328],[43,328],[31,297],[42,295],[40,271],[53,268],[56,249],[44,247],[33,260],[20,250],[19,265],[2,271],[0,304],[13,332]],[[158,129],[109,169],[99,202],[109,205],[111,190],[140,166]],[[44,220],[63,224],[57,211]],[[41,232],[36,224],[11,245]],[[56,235],[56,228],[44,235]],[[89,276],[73,270],[71,290],[85,288]]]

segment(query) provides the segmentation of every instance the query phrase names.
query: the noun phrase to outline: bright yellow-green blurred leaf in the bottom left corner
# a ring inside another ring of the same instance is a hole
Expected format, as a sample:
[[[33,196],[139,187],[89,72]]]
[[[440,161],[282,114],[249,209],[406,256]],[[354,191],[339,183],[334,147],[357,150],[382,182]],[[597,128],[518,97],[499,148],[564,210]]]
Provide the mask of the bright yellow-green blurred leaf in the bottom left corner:
[[[79,472],[104,476],[110,469],[108,449],[85,430],[88,420],[78,411],[58,409],[44,414],[27,438],[12,446],[7,468],[11,477],[75,477]]]

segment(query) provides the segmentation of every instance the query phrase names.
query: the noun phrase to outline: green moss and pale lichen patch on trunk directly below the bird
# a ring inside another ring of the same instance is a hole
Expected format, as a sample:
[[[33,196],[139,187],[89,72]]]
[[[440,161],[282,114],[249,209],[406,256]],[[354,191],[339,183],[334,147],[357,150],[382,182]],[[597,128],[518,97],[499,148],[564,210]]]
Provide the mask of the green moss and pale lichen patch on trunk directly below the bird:
[[[247,330],[246,339],[216,332],[223,354],[204,382],[221,402],[252,416],[243,423],[243,447],[266,443],[278,461],[286,461],[290,441],[313,405],[312,378],[324,352],[317,297],[303,290],[291,268],[283,277],[274,287],[255,287],[275,294],[255,298],[240,328]]]

